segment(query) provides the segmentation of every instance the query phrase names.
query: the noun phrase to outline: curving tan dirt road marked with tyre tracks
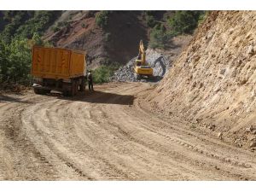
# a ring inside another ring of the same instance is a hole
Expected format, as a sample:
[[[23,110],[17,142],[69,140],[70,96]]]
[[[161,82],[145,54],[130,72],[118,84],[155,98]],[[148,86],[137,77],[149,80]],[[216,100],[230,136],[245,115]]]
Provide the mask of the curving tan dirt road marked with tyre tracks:
[[[255,180],[256,155],[145,108],[151,85],[0,95],[1,180]]]

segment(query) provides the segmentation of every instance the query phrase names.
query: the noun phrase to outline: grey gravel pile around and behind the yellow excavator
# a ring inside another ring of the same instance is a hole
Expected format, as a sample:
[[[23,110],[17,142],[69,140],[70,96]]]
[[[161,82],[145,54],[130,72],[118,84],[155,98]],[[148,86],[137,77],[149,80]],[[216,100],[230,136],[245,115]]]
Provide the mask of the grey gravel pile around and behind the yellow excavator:
[[[160,80],[164,77],[166,69],[170,67],[168,61],[159,52],[153,49],[146,50],[146,58],[148,65],[154,68],[154,80]],[[134,62],[137,57],[134,57],[124,67],[120,67],[118,71],[113,74],[112,81],[146,81],[146,79],[137,80],[133,72]]]

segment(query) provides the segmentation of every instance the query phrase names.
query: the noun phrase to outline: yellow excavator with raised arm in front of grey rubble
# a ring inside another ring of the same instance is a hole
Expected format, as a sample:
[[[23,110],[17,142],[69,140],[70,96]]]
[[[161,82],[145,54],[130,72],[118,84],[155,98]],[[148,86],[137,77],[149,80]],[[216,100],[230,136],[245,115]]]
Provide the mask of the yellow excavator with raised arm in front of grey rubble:
[[[147,77],[148,79],[153,76],[153,68],[148,66],[146,62],[146,51],[144,49],[143,40],[139,44],[139,54],[134,65],[134,72],[137,79]]]

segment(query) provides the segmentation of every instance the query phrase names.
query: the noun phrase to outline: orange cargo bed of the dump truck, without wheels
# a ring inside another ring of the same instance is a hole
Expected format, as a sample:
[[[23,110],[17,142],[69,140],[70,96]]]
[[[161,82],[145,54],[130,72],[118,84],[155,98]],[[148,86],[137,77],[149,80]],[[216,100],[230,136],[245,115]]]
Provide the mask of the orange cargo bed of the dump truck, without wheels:
[[[85,55],[84,51],[34,46],[32,75],[41,79],[73,79],[84,76]]]

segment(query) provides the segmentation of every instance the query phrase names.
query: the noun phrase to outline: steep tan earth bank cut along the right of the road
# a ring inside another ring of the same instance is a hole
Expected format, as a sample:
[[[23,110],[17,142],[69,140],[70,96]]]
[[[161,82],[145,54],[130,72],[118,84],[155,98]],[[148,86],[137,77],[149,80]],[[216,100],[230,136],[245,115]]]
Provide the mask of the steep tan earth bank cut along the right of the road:
[[[256,125],[256,12],[213,11],[148,100],[237,146]]]

